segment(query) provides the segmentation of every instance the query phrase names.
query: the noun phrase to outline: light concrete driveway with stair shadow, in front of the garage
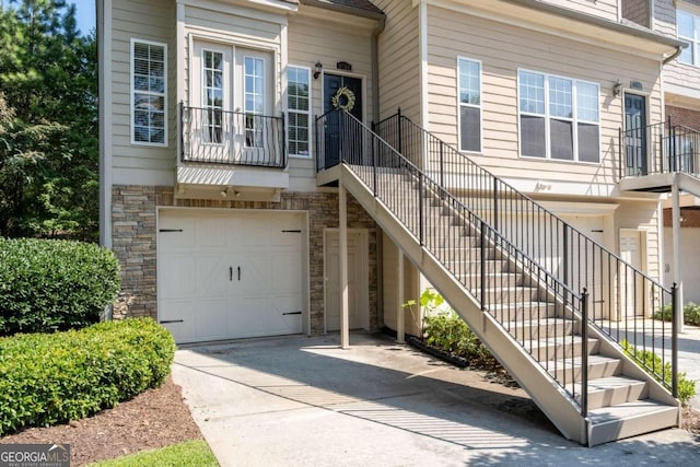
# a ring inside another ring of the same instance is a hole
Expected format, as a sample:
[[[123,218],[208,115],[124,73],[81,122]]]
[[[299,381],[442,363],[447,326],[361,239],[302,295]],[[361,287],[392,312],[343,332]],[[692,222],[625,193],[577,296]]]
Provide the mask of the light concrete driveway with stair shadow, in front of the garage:
[[[667,430],[594,448],[522,389],[382,336],[241,340],[177,351],[173,378],[222,466],[692,465]]]

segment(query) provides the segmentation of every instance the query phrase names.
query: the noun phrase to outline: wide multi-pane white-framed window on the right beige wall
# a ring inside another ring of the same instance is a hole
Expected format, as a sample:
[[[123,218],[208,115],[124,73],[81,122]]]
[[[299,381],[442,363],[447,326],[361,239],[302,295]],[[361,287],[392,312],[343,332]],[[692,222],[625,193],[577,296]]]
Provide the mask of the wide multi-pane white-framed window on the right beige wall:
[[[518,94],[522,155],[600,162],[598,84],[521,70]]]

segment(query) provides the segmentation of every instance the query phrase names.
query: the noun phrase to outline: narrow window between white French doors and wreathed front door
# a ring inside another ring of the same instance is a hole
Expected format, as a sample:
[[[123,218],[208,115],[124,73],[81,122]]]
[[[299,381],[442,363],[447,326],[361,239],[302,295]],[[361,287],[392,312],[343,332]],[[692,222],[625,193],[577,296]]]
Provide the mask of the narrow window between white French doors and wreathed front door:
[[[311,70],[308,68],[288,67],[287,95],[289,153],[308,157],[311,135]]]

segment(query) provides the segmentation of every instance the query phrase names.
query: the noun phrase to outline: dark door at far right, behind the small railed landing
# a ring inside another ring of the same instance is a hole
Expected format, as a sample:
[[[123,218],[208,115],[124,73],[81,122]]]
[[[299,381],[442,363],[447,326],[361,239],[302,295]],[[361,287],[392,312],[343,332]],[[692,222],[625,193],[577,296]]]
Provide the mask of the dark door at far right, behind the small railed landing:
[[[625,94],[626,175],[646,175],[646,100]]]

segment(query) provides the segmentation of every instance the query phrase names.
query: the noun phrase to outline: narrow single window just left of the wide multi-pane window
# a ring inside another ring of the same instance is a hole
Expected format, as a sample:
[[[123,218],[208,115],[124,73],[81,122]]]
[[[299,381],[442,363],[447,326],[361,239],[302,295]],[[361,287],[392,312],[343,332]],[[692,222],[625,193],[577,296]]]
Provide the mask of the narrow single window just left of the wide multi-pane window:
[[[457,59],[459,100],[459,149],[481,151],[481,62]]]

